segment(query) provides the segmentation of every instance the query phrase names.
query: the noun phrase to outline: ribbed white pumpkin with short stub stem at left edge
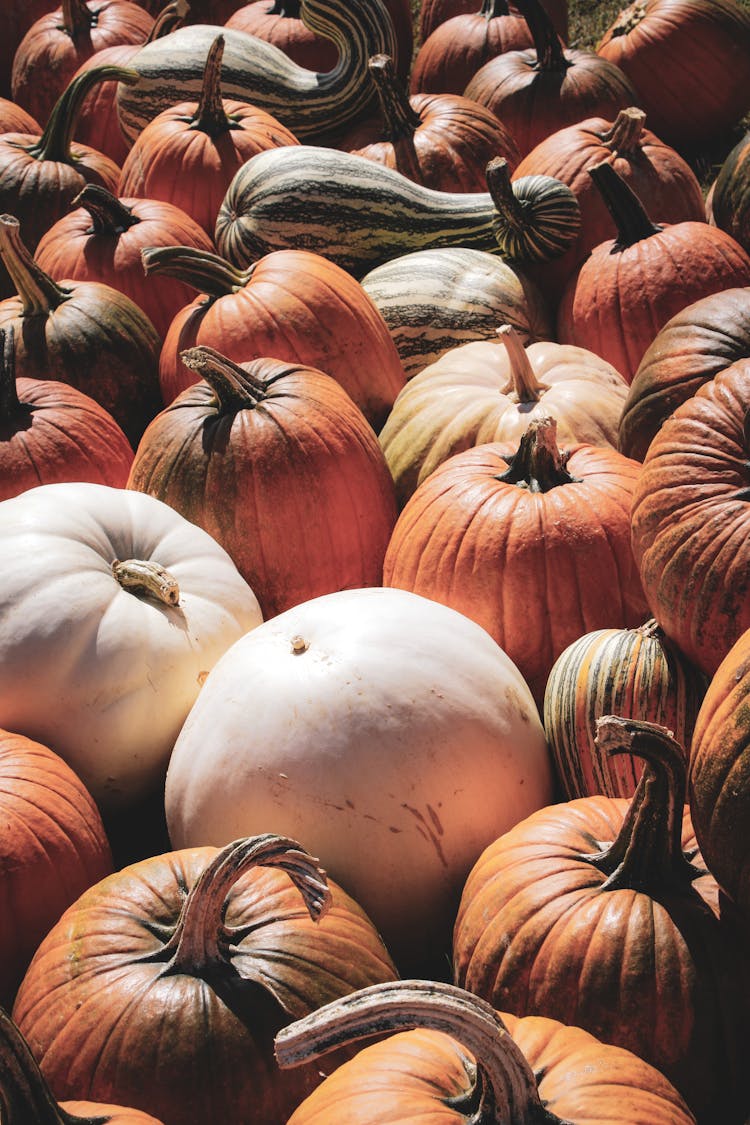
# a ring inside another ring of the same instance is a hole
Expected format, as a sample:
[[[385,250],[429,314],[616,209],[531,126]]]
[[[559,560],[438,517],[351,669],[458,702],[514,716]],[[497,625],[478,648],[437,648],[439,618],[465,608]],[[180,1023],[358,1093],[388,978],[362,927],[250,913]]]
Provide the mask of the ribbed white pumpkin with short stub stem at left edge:
[[[141,564],[121,568],[125,583],[165,568],[166,601],[123,585],[115,560]],[[0,503],[0,726],[55,749],[102,810],[163,780],[208,672],[262,620],[210,536],[105,485],[44,485]]]

